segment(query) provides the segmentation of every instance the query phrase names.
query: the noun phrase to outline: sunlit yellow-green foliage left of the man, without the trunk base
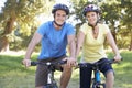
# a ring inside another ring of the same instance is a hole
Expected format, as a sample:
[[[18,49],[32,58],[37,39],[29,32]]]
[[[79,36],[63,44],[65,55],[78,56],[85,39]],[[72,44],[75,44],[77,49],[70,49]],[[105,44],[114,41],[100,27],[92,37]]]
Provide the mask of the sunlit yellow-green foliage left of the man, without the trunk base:
[[[20,50],[28,46],[29,41],[25,40],[30,40],[40,25],[36,16],[41,13],[50,14],[54,2],[54,0],[7,0],[0,13],[0,35],[10,29],[8,32],[10,48]],[[13,23],[10,20],[13,20]],[[8,24],[8,21],[11,23]],[[7,25],[9,29],[6,29]]]

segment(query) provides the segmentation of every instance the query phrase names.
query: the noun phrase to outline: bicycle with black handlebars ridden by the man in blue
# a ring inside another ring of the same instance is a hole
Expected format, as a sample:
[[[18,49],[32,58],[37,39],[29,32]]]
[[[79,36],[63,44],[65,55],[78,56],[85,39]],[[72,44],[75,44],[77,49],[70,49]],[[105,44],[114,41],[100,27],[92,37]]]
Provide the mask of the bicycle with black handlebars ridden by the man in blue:
[[[47,66],[48,67],[47,84],[44,87],[46,87],[46,88],[58,88],[57,82],[54,78],[54,72],[56,70],[55,66],[56,65],[63,65],[65,63],[66,63],[66,61],[61,61],[61,62],[56,62],[56,63],[31,62],[31,66],[36,66],[37,64],[42,64],[42,65]]]

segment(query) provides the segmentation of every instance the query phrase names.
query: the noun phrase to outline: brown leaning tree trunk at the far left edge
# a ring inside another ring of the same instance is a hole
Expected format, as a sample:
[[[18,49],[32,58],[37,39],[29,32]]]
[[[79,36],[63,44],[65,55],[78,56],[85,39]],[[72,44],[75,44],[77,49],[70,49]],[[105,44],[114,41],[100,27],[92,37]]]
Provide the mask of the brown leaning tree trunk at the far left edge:
[[[7,35],[12,32],[14,21],[15,21],[14,18],[10,18],[6,24],[4,32],[0,36],[0,52],[9,51],[9,37],[10,36],[7,36]]]

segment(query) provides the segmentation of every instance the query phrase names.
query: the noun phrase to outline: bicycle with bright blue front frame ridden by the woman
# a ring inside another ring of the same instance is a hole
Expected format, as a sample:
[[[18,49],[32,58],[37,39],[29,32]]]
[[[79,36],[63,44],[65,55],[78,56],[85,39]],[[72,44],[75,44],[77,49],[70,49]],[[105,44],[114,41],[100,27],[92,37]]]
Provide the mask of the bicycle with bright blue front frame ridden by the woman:
[[[91,66],[94,72],[94,77],[91,78],[91,88],[106,88],[106,84],[101,81],[99,65],[100,64],[113,64],[114,59],[109,59],[109,62],[100,62],[100,63],[79,63],[78,67],[87,67]]]

